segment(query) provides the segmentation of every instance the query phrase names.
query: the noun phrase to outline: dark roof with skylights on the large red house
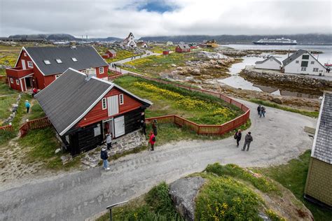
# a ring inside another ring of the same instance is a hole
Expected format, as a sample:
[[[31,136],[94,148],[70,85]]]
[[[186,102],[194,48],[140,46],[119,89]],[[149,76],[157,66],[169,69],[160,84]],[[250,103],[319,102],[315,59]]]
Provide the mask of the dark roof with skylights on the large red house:
[[[46,76],[63,73],[69,68],[83,70],[109,65],[92,46],[32,47],[25,50]],[[73,62],[71,57],[75,57],[77,62]],[[57,63],[55,59],[61,59],[62,63]],[[50,61],[50,64],[45,64],[44,60]]]

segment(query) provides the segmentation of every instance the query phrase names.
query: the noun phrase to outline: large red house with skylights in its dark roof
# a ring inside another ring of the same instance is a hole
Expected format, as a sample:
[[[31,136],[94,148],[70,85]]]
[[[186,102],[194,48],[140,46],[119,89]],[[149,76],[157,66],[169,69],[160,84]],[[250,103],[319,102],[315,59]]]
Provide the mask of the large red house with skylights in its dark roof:
[[[15,67],[6,69],[8,84],[25,92],[32,87],[47,87],[69,68],[95,69],[97,78],[107,79],[109,64],[92,46],[23,47]]]

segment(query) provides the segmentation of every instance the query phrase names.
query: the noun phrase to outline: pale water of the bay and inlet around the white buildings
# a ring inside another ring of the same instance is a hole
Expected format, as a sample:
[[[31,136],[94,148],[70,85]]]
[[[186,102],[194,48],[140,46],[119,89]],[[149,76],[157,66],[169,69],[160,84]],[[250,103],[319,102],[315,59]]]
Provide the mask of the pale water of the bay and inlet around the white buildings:
[[[332,62],[332,45],[224,45],[231,48],[235,48],[237,50],[319,50],[322,51],[323,54],[314,55],[321,64],[326,62]],[[263,53],[262,55],[273,55],[268,53]],[[287,57],[287,55],[273,55],[280,62]],[[230,77],[219,80],[221,83],[225,83],[226,85],[230,85],[235,88],[242,88],[244,90],[256,90],[258,92],[268,92],[271,94],[283,95],[283,96],[296,96],[296,97],[308,97],[308,98],[318,98],[319,96],[312,96],[310,94],[303,94],[299,92],[290,92],[286,90],[281,90],[275,87],[266,87],[263,85],[254,85],[248,80],[244,80],[244,78],[240,77],[238,73],[246,65],[254,65],[255,62],[263,60],[263,57],[242,57],[243,61],[241,63],[233,64],[230,67]]]

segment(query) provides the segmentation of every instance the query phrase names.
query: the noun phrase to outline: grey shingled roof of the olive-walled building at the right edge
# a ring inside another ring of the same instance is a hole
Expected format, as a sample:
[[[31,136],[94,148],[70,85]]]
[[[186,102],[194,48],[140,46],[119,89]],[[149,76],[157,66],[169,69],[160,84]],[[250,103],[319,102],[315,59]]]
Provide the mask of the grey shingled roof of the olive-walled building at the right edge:
[[[325,92],[312,157],[332,164],[332,93]]]

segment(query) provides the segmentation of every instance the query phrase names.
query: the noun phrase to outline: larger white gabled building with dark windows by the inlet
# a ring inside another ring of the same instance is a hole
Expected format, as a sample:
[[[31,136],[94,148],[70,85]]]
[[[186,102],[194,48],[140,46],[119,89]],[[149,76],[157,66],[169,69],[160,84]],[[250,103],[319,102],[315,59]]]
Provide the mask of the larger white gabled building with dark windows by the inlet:
[[[284,73],[309,74],[314,76],[331,76],[326,68],[307,50],[298,50],[282,61]]]

